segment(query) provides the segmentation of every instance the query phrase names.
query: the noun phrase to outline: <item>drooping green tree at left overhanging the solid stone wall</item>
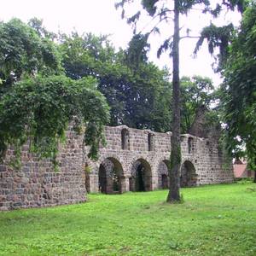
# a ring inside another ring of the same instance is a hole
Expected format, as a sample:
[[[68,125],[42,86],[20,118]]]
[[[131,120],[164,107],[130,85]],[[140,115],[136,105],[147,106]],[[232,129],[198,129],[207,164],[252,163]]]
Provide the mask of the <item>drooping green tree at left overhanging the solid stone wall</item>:
[[[36,18],[29,26],[17,19],[0,23],[0,160],[13,145],[17,167],[20,148],[28,141],[31,152],[49,157],[57,166],[58,146],[71,123],[77,132],[85,125],[84,144],[90,146],[92,159],[104,143],[108,104],[90,73],[77,81],[61,75],[61,54],[54,38]],[[89,39],[84,47],[103,58],[95,37]]]

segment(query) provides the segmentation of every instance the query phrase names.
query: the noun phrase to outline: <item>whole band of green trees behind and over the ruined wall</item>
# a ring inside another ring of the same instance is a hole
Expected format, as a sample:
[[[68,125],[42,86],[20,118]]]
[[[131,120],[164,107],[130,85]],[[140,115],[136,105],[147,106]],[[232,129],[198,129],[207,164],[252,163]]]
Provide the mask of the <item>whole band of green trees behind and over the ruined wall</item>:
[[[172,84],[168,70],[129,49],[113,48],[108,37],[48,32],[42,20],[0,23],[0,153],[29,139],[31,150],[55,162],[57,145],[75,116],[86,124],[84,142],[96,157],[103,125],[172,129]],[[183,79],[183,132],[196,109],[209,107],[209,79]],[[108,108],[108,106],[110,108]]]

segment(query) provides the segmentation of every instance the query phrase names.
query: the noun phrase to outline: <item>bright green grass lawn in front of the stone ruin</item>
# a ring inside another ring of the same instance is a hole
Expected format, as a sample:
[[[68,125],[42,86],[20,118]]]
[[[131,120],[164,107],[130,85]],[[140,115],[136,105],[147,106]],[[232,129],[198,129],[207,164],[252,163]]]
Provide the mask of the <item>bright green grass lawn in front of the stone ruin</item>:
[[[89,195],[84,204],[0,212],[0,255],[256,255],[256,185]]]

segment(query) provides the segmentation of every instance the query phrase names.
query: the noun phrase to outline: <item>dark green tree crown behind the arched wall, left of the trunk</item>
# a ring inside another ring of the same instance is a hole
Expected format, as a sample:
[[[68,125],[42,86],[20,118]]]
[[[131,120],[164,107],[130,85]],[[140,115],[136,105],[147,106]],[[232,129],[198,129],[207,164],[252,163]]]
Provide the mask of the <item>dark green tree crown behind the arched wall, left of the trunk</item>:
[[[128,125],[154,131],[169,131],[171,119],[171,84],[168,73],[153,63],[146,54],[137,55],[134,38],[127,51],[115,52],[108,38],[90,34],[62,36],[63,67],[68,77],[80,79],[88,74],[99,84],[111,107],[110,125]]]

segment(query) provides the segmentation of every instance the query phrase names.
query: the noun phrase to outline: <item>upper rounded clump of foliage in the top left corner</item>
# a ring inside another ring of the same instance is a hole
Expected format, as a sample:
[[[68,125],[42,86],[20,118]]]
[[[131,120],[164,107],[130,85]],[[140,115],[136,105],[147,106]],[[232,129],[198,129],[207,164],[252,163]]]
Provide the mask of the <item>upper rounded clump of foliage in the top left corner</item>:
[[[1,91],[27,75],[61,72],[60,56],[49,38],[40,38],[30,26],[18,19],[0,23]]]

